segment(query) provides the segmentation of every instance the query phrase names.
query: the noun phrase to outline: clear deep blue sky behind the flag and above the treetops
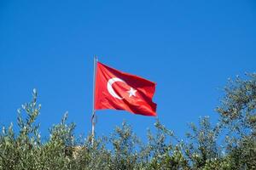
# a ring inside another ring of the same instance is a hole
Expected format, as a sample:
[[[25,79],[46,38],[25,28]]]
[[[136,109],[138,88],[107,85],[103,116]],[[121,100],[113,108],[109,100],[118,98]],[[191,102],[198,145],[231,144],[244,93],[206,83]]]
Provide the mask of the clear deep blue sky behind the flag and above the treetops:
[[[43,135],[65,111],[89,133],[93,55],[157,82],[160,122],[178,136],[213,110],[229,77],[256,68],[255,1],[1,1],[0,125],[38,89]],[[98,111],[96,133],[126,120],[145,138],[155,118]]]

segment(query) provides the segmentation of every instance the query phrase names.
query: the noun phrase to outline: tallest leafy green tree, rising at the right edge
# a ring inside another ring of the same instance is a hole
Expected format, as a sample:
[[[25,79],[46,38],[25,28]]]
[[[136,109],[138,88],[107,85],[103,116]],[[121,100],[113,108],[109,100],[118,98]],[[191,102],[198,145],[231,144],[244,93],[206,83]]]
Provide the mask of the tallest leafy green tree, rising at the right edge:
[[[233,167],[256,168],[256,74],[247,79],[236,77],[224,88],[224,99],[218,106],[220,121],[227,131],[226,144]]]

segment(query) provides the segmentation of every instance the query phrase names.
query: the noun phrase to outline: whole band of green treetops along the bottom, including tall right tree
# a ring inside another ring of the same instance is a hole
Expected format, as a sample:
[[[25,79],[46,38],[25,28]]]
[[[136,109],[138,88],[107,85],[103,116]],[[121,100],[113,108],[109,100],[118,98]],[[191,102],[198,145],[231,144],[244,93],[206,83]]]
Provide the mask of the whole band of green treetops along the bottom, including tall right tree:
[[[37,117],[41,105],[33,90],[32,101],[18,110],[18,131],[13,123],[0,133],[0,170],[2,169],[256,169],[256,75],[237,77],[224,88],[224,99],[217,112],[220,121],[212,125],[202,117],[199,125],[189,125],[186,139],[178,139],[159,121],[155,133],[148,130],[143,143],[126,122],[110,137],[77,138],[74,123],[61,122],[49,128],[44,142]],[[220,147],[221,136],[225,136]]]

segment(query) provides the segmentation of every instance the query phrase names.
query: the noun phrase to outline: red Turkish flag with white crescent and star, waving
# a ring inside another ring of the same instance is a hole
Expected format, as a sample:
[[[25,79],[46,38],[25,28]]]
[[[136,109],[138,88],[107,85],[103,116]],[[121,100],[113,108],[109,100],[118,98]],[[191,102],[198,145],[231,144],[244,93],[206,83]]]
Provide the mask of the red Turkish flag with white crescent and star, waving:
[[[156,116],[152,101],[155,83],[122,71],[96,64],[95,109],[130,111],[143,116]]]

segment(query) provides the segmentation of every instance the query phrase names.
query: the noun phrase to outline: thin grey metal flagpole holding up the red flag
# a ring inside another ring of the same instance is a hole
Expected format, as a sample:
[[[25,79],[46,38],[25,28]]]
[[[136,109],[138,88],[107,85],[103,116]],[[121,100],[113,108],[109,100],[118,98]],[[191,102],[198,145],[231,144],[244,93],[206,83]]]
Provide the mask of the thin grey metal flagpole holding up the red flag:
[[[92,115],[91,115],[91,144],[94,144],[95,139],[95,125],[96,125],[96,111],[95,111],[95,79],[96,79],[96,63],[97,63],[97,57],[94,56],[93,59],[93,82],[92,82]]]

